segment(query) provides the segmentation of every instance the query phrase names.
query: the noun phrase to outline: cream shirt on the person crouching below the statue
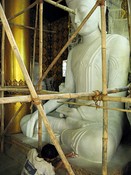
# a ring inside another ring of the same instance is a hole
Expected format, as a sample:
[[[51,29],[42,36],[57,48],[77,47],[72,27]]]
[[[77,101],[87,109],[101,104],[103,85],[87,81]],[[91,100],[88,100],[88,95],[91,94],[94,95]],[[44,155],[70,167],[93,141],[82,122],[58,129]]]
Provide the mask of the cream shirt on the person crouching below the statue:
[[[36,149],[31,149],[21,175],[55,175],[54,167],[38,157]]]

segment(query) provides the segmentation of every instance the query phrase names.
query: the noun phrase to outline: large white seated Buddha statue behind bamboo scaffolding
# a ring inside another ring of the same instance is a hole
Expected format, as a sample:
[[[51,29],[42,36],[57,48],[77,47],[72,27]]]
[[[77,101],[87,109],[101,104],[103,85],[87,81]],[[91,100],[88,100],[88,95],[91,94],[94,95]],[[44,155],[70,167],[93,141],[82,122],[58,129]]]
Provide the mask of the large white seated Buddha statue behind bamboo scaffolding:
[[[68,7],[75,10],[71,21],[76,29],[96,0],[66,0]],[[102,90],[102,59],[100,7],[98,7],[79,34],[82,42],[69,53],[65,83],[60,92],[77,93]],[[127,85],[129,66],[129,42],[123,36],[107,34],[107,87],[119,88]],[[125,96],[125,92],[111,94]],[[62,100],[49,100],[43,105],[47,118],[55,134],[60,137],[60,144],[73,150],[83,160],[102,162],[103,110],[88,106],[68,107],[58,103]],[[63,100],[64,101],[64,100]],[[78,100],[77,100],[78,101]],[[79,100],[81,102],[81,100]],[[85,101],[95,104],[93,101]],[[102,102],[101,102],[102,105]],[[123,103],[109,102],[109,107],[124,108]],[[55,111],[50,115],[51,112]],[[125,114],[118,111],[108,112],[108,161],[114,155],[123,133]],[[38,111],[22,118],[21,129],[31,138],[38,138]],[[43,140],[49,141],[43,124]]]

